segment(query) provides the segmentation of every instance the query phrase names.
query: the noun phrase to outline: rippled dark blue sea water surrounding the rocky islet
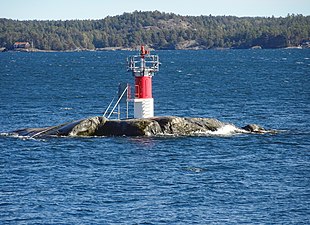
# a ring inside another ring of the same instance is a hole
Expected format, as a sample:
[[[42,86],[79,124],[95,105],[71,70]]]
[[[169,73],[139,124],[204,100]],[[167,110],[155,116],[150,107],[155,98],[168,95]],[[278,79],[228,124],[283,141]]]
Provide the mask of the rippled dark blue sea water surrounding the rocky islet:
[[[14,137],[102,115],[135,52],[1,53],[0,224],[309,224],[310,50],[154,53],[155,115],[279,133]]]

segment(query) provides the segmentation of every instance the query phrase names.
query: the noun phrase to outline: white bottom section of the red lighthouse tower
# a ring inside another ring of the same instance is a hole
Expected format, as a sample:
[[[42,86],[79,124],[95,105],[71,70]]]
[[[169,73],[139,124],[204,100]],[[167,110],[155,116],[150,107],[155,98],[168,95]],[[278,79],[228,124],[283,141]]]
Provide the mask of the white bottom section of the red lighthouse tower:
[[[134,102],[134,118],[154,117],[154,99],[136,98]]]

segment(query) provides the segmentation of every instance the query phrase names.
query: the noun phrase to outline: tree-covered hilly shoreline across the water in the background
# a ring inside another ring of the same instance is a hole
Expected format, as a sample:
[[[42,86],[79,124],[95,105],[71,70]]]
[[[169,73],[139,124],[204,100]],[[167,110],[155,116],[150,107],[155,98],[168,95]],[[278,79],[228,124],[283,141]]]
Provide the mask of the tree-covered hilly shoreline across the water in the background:
[[[181,16],[159,11],[101,20],[0,19],[0,47],[29,42],[40,50],[285,48],[310,40],[310,16]]]

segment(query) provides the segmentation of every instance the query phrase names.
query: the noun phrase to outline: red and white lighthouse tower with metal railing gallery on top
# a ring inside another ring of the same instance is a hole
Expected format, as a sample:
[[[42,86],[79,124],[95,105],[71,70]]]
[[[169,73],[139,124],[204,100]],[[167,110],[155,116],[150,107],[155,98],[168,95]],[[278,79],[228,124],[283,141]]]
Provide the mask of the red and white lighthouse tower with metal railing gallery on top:
[[[140,55],[130,56],[127,61],[127,70],[135,78],[134,118],[153,117],[152,77],[159,70],[159,58],[142,45]]]

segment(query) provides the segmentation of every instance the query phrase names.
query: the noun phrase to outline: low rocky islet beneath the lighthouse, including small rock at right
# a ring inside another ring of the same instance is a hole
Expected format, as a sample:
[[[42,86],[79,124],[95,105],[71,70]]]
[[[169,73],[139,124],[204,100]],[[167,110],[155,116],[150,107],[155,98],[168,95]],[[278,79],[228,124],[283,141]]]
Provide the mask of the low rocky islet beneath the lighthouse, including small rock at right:
[[[217,131],[226,123],[212,118],[153,117],[147,119],[107,120],[105,117],[91,117],[84,120],[47,128],[28,128],[14,131],[21,136],[156,136],[193,135]],[[236,128],[238,129],[238,128]],[[264,133],[264,129],[251,124],[241,133]]]

